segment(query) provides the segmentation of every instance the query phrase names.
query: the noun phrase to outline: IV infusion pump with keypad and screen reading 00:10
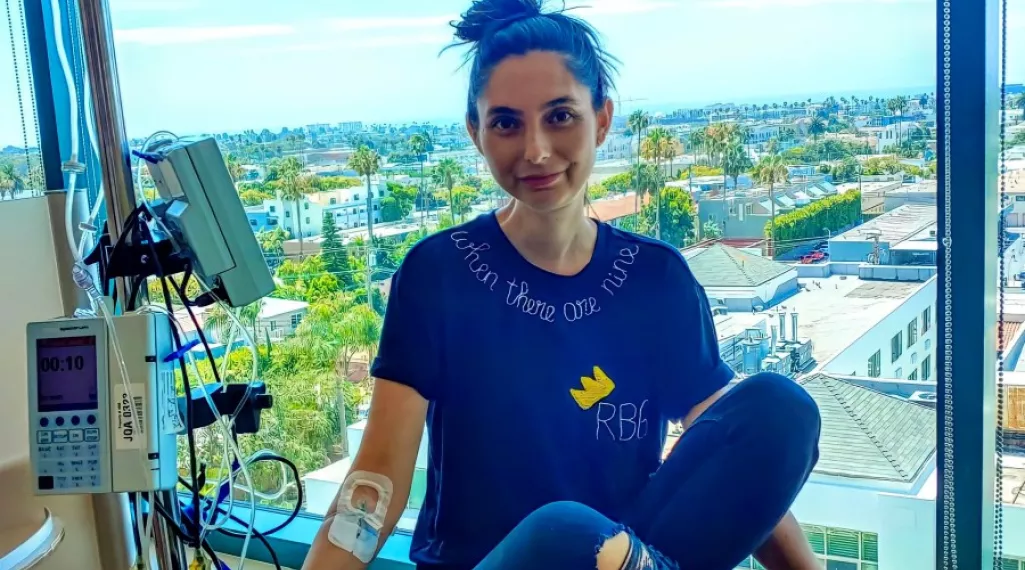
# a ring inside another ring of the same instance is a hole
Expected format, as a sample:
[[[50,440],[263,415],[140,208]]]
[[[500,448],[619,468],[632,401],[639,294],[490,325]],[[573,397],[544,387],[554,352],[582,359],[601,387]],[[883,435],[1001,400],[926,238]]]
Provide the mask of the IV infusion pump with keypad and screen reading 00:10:
[[[177,483],[176,435],[183,424],[177,359],[167,358],[174,353],[171,323],[156,313],[121,315],[113,323],[116,334],[102,318],[28,325],[36,494],[168,490]]]

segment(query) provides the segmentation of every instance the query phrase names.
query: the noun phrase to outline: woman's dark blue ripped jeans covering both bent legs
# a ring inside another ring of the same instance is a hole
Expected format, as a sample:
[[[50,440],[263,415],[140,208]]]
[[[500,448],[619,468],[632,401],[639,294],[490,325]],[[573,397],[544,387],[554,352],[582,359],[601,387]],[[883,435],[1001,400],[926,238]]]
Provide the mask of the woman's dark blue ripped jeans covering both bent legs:
[[[796,382],[755,374],[680,438],[622,521],[578,502],[531,513],[476,570],[593,570],[626,531],[621,570],[730,570],[782,520],[818,460],[820,418]]]

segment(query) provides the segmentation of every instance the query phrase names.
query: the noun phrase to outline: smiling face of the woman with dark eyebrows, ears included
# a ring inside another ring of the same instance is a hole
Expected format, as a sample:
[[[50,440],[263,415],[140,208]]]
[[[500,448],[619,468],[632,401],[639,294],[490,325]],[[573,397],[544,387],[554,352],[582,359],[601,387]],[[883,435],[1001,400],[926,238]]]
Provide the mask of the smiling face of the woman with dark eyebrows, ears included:
[[[594,112],[590,89],[562,54],[531,51],[495,67],[477,101],[480,124],[467,129],[495,180],[542,212],[580,203],[598,147],[612,122],[612,101]]]

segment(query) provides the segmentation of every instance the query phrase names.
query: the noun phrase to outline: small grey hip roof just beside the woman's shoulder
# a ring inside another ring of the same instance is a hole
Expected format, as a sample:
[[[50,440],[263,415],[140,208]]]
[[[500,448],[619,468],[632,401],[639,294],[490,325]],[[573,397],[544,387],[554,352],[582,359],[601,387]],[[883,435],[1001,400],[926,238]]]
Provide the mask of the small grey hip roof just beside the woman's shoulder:
[[[719,243],[687,250],[684,255],[703,287],[751,287],[794,271],[790,266]]]

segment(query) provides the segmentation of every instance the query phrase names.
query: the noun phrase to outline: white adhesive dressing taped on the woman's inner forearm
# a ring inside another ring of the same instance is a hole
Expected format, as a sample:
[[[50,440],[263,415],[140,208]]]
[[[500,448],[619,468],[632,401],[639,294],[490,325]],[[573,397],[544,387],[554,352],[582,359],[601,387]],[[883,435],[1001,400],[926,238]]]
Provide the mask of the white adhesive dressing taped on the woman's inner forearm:
[[[372,512],[353,505],[353,493],[360,487],[369,487],[377,492],[377,504]],[[342,551],[352,553],[360,562],[370,564],[380,545],[381,528],[392,502],[392,480],[383,475],[362,471],[348,474],[338,492],[337,514],[331,521],[328,540]]]

